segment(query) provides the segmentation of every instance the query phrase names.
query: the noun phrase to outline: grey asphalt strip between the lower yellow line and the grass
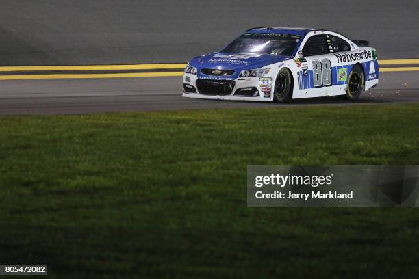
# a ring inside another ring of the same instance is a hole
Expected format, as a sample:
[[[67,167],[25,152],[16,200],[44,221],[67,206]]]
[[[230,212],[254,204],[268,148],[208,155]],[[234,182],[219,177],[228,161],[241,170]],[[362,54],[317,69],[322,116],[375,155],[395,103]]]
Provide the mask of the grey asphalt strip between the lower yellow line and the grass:
[[[355,103],[334,97],[296,100],[290,104],[214,101],[183,98],[181,77],[121,79],[45,79],[0,81],[0,114],[87,114],[224,107],[298,107],[419,101],[418,72],[383,72],[376,88]]]

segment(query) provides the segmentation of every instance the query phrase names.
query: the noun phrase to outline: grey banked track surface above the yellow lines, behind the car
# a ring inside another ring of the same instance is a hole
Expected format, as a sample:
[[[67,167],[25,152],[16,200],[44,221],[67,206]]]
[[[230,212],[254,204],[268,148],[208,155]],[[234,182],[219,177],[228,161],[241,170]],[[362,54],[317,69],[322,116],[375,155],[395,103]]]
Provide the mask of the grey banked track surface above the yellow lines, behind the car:
[[[0,65],[187,62],[250,27],[332,29],[418,57],[418,1],[0,1]]]

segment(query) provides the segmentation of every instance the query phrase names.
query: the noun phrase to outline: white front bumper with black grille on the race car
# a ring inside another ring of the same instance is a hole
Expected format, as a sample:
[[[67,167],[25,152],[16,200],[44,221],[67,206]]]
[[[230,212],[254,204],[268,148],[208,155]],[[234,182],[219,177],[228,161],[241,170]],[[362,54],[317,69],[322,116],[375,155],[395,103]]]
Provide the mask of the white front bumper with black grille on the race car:
[[[183,94],[187,98],[212,100],[272,101],[270,77],[217,79],[183,75]]]

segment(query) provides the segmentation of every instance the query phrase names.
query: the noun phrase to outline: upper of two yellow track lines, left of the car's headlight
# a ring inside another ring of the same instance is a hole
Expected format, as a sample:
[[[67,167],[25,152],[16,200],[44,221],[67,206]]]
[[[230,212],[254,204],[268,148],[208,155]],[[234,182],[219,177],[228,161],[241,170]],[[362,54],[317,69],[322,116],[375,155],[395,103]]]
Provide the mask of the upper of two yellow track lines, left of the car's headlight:
[[[80,65],[80,66],[0,66],[0,72],[37,70],[156,70],[182,69],[186,64],[135,64],[135,65]]]

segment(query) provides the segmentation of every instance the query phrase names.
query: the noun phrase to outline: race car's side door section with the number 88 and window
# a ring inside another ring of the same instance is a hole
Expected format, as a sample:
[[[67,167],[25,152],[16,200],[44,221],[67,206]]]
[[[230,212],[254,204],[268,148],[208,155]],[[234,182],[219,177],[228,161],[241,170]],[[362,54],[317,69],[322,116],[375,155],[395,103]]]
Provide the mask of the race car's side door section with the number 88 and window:
[[[299,74],[299,90],[304,97],[332,96],[339,94],[333,83],[333,46],[329,34],[314,34],[307,38],[301,55],[303,63]]]

